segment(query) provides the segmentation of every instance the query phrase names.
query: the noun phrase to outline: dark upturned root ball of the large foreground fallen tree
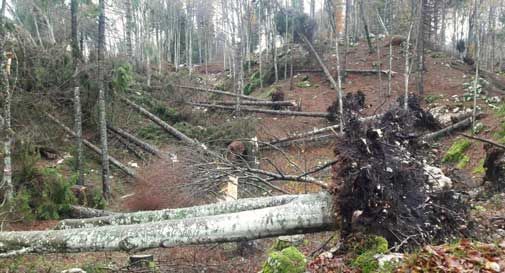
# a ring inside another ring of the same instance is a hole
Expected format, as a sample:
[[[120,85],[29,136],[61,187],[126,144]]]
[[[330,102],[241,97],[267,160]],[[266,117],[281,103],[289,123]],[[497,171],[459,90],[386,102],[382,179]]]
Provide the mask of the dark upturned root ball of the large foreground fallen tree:
[[[346,109],[345,122],[334,167],[342,181],[333,188],[344,236],[376,234],[402,249],[468,234],[461,195],[429,185],[418,136],[439,124],[416,97],[407,111],[398,106],[367,124]]]

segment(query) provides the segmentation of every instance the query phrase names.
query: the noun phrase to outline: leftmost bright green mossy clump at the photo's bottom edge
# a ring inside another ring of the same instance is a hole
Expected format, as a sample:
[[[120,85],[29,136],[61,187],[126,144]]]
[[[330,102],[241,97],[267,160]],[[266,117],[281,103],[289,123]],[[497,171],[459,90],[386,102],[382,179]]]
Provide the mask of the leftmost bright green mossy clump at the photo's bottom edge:
[[[263,273],[303,273],[307,260],[296,247],[273,251],[263,264]]]

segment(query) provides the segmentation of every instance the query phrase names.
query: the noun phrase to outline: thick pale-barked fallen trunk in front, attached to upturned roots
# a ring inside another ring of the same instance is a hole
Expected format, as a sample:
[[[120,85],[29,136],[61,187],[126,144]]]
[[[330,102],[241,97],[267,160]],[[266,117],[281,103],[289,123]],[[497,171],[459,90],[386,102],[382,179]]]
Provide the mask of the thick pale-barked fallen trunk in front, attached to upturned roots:
[[[20,251],[138,251],[325,231],[336,227],[332,205],[332,197],[322,193],[302,195],[281,206],[207,217],[97,228],[1,232],[0,251],[4,255]]]

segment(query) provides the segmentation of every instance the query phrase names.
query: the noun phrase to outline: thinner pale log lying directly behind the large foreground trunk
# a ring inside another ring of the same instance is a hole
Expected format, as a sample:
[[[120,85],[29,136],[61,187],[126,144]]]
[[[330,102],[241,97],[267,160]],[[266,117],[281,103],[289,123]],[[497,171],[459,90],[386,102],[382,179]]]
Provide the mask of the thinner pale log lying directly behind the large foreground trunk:
[[[280,195],[274,197],[248,198],[196,207],[117,213],[114,215],[89,219],[66,219],[58,223],[55,229],[90,228],[108,225],[133,225],[182,218],[205,217],[217,214],[235,213],[246,210],[280,206],[294,201],[298,195]]]

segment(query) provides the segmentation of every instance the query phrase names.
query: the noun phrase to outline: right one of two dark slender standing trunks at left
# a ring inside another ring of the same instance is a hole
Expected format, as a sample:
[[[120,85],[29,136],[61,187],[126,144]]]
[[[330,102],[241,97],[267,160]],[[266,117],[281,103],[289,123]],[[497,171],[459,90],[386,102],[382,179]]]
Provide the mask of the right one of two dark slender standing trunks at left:
[[[105,0],[99,1],[100,16],[98,17],[98,112],[100,124],[100,143],[102,151],[102,191],[105,199],[112,197],[109,178],[109,148],[107,144],[107,117],[105,108],[105,90],[103,61],[105,51]]]

